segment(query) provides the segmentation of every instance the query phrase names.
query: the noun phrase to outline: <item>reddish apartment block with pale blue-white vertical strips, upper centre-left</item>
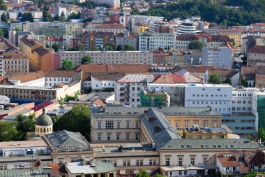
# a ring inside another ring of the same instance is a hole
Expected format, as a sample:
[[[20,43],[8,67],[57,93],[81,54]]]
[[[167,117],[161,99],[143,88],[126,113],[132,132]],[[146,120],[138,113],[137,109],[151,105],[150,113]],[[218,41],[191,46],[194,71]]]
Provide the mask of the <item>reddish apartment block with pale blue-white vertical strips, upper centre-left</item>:
[[[93,48],[103,48],[104,45],[114,43],[112,32],[86,31],[83,34],[85,50]]]

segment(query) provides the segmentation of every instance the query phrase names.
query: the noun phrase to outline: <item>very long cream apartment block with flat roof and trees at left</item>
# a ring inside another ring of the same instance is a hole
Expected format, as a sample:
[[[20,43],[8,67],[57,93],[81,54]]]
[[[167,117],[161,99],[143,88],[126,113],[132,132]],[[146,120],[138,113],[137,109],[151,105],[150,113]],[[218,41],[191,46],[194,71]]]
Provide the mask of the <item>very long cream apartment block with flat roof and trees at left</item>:
[[[91,57],[91,64],[153,64],[153,53],[142,51],[60,51],[61,64],[69,59],[74,66],[82,62],[82,57]]]

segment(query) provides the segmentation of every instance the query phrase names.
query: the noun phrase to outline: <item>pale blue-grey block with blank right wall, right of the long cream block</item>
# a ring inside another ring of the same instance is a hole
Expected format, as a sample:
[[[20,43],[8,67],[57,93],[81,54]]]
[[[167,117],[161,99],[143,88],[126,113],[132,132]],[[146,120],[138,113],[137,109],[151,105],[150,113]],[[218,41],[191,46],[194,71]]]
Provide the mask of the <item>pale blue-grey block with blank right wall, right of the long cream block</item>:
[[[219,68],[232,69],[232,48],[203,48],[202,65],[218,66]]]

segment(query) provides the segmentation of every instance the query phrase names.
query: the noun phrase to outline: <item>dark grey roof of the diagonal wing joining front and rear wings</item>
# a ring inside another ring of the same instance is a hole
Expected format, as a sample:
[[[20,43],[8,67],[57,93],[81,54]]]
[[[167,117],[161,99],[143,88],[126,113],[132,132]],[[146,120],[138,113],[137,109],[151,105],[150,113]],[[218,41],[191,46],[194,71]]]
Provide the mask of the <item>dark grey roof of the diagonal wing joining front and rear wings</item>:
[[[172,127],[165,115],[154,108],[149,108],[148,114],[143,114],[141,118],[158,148],[172,139],[181,139],[181,136]]]

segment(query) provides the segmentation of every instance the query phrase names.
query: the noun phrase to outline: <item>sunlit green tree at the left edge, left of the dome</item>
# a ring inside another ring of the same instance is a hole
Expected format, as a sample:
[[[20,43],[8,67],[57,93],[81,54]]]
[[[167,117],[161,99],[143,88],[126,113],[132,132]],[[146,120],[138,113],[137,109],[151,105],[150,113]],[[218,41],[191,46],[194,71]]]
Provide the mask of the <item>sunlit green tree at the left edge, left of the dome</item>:
[[[0,122],[0,141],[17,141],[19,133],[15,129],[15,122]]]

